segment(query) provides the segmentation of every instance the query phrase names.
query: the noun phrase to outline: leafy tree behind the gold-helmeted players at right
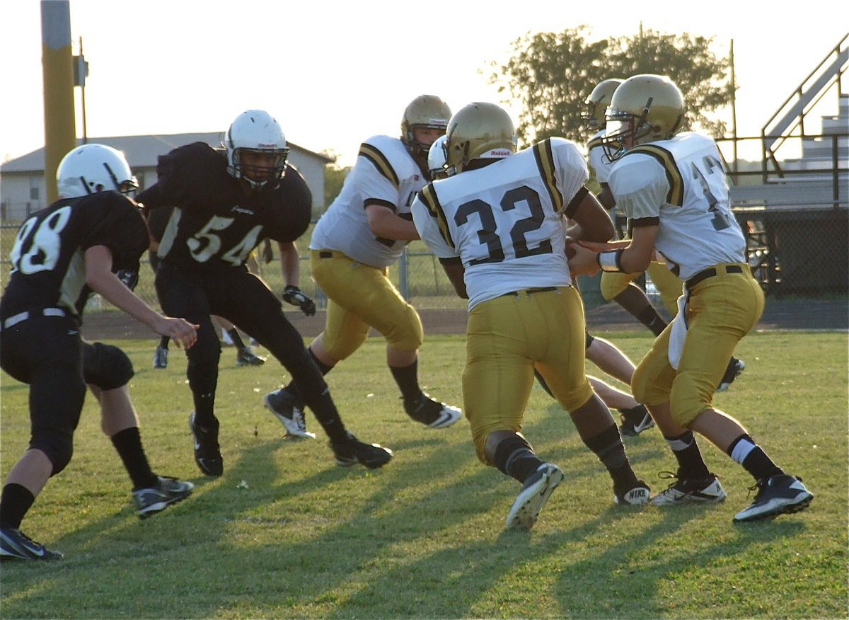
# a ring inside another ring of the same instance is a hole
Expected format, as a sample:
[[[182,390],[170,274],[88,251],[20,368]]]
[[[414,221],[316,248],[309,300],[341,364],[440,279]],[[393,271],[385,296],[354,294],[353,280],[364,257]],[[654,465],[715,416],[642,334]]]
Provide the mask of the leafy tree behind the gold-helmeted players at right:
[[[687,103],[687,127],[722,136],[725,123],[708,115],[731,101],[727,58],[711,51],[712,37],[643,31],[634,37],[593,41],[588,26],[561,32],[526,33],[512,43],[503,65],[490,63],[489,82],[519,101],[520,141],[531,144],[550,136],[577,142],[582,130],[584,99],[599,82],[639,73],[670,76]]]

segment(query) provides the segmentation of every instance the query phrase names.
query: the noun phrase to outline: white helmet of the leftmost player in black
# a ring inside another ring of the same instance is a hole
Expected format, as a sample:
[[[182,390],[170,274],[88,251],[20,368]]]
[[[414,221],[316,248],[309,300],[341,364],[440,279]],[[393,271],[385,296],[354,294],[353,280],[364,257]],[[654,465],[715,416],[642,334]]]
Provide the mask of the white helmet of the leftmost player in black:
[[[105,144],[82,144],[59,161],[56,189],[61,198],[106,191],[129,194],[138,189],[138,181],[120,150]]]

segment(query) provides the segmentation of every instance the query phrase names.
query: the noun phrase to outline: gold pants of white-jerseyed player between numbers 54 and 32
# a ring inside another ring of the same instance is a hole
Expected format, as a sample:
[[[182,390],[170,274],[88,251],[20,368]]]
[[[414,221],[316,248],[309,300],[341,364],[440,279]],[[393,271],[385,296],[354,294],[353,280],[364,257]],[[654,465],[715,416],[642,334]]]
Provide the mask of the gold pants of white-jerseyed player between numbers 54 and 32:
[[[351,260],[337,251],[310,252],[312,279],[328,296],[324,347],[335,359],[357,351],[374,327],[393,347],[413,351],[424,338],[419,313],[389,279],[389,269]]]

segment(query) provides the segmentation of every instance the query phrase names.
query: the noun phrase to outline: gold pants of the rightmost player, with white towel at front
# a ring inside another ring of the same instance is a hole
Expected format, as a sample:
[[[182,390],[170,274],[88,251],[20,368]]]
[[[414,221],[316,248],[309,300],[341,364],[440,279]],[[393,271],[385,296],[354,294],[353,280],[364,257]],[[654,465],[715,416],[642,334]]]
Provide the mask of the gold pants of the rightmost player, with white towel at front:
[[[689,426],[712,407],[713,393],[734,347],[763,313],[763,291],[748,265],[739,265],[743,273],[725,273],[727,264],[738,263],[715,266],[717,275],[685,293],[689,295],[684,307],[689,327],[678,370],[669,364],[670,324],[640,361],[631,381],[638,402],[650,406],[669,401],[678,426]]]

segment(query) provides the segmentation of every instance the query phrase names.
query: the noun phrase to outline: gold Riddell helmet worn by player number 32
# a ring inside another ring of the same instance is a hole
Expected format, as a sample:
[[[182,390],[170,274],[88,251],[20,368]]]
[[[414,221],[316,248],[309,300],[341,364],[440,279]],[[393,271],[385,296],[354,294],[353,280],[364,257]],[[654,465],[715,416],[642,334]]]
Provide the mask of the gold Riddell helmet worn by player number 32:
[[[496,104],[468,104],[448,121],[447,171],[463,172],[473,160],[500,159],[516,152],[513,120]]]

